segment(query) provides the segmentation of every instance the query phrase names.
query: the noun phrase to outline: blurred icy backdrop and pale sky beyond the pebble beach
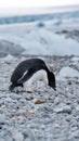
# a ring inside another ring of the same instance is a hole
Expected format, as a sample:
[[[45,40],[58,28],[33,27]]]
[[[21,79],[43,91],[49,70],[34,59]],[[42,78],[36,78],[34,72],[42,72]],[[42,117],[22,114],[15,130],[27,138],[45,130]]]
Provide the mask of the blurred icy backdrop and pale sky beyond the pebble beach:
[[[0,56],[79,55],[79,0],[0,0]]]

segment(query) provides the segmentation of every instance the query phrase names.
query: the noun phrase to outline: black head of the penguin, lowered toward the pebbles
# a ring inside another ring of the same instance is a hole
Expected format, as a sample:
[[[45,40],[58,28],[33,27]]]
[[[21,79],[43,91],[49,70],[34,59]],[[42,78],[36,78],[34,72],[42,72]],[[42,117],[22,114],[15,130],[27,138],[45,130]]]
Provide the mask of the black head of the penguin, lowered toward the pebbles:
[[[49,78],[49,86],[56,91],[55,75],[52,72],[50,72],[48,78]]]

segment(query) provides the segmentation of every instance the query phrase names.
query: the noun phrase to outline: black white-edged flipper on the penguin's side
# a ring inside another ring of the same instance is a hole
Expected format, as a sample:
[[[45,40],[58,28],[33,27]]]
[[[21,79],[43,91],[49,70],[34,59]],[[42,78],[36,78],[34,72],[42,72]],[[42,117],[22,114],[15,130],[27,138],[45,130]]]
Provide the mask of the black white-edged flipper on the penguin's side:
[[[28,80],[35,73],[36,70],[34,70],[32,68],[28,69],[27,74],[25,74],[21,79],[17,80],[17,84],[23,84],[26,80]]]

